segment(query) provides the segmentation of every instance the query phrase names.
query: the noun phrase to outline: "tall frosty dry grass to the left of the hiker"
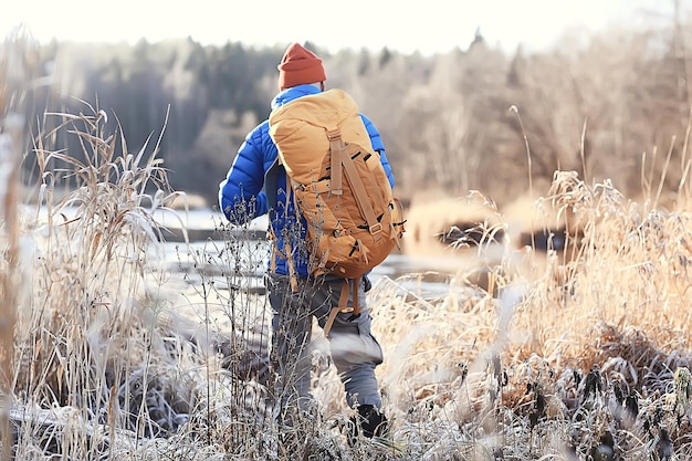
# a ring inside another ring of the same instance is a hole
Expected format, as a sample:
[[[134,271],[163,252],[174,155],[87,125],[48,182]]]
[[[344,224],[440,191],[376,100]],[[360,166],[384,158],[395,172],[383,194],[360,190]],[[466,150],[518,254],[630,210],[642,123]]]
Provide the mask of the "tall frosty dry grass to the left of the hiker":
[[[12,281],[14,304],[3,304],[17,308],[13,347],[4,349],[14,364],[6,407],[13,433],[3,447],[17,459],[113,460],[291,459],[322,450],[296,439],[328,433],[314,421],[277,442],[271,317],[253,280],[266,244],[249,227],[219,223],[217,241],[186,239],[167,265],[171,233],[155,216],[164,210],[184,222],[185,210],[169,205],[185,195],[170,190],[158,143],[132,153],[122,133],[105,132],[105,112],[86,108],[46,114],[82,151],[54,149],[54,130],[41,133],[38,203],[15,203],[27,271]],[[66,182],[71,191],[57,193]],[[11,255],[3,252],[6,266]]]

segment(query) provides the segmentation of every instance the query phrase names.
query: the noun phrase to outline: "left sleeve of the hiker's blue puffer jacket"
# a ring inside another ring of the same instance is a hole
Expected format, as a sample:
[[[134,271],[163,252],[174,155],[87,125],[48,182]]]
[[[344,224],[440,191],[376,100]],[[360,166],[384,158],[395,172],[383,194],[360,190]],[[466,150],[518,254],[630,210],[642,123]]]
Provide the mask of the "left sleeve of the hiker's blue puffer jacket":
[[[266,213],[264,185],[264,126],[248,134],[238,149],[233,165],[219,185],[219,205],[233,224],[243,224]]]

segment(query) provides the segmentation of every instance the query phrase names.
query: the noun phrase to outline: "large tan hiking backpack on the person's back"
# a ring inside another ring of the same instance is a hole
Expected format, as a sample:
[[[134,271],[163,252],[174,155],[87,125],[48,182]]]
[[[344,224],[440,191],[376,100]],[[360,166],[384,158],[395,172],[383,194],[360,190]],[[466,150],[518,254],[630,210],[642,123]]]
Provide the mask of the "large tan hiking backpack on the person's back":
[[[342,90],[302,96],[272,111],[269,123],[307,222],[311,273],[359,279],[399,247],[405,229],[355,101]]]

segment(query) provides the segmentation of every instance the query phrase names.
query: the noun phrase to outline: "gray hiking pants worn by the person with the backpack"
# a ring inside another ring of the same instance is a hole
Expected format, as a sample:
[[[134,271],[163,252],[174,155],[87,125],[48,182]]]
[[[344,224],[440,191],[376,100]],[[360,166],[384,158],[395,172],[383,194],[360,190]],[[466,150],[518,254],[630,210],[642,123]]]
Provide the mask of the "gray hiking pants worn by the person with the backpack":
[[[329,311],[338,304],[344,279],[298,280],[291,287],[286,275],[270,274],[269,301],[273,311],[271,362],[277,373],[275,391],[284,408],[297,400],[307,410],[313,405],[310,343],[313,316],[324,327]],[[338,313],[329,332],[332,360],[346,391],[348,406],[381,407],[375,367],[382,363],[382,349],[370,333],[371,317],[366,305],[365,279],[358,287],[360,315]],[[349,306],[353,281],[349,287]],[[279,397],[280,396],[280,397]]]

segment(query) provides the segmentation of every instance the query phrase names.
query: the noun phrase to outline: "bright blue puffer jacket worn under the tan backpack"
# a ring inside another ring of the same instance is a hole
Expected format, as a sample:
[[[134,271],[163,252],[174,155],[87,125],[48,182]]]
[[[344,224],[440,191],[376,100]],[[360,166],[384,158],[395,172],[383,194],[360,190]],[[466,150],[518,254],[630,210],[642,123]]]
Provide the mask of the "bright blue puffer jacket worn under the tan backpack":
[[[272,101],[272,108],[286,104],[297,97],[308,94],[319,93],[319,88],[314,85],[298,85],[286,88],[279,93]],[[360,115],[365,127],[370,135],[373,148],[380,155],[380,160],[389,178],[389,184],[394,187],[395,180],[389,161],[385,156],[385,146],[379,132],[365,115]],[[245,137],[245,142],[240,146],[233,165],[228,171],[223,181],[219,185],[219,205],[221,210],[231,223],[243,224],[251,219],[269,212],[266,195],[262,190],[265,175],[276,160],[279,153],[272,138],[269,135],[269,121],[262,122]],[[286,178],[279,175],[276,178],[276,210],[271,214],[272,229],[275,232],[275,254],[272,255],[275,262],[275,272],[289,274],[287,260],[285,254],[286,242],[293,249],[293,261],[295,274],[306,279],[307,255],[302,254],[297,249],[304,249],[301,244],[305,240],[305,222],[302,218],[296,218],[293,201],[286,205]],[[286,239],[290,239],[289,241]]]

